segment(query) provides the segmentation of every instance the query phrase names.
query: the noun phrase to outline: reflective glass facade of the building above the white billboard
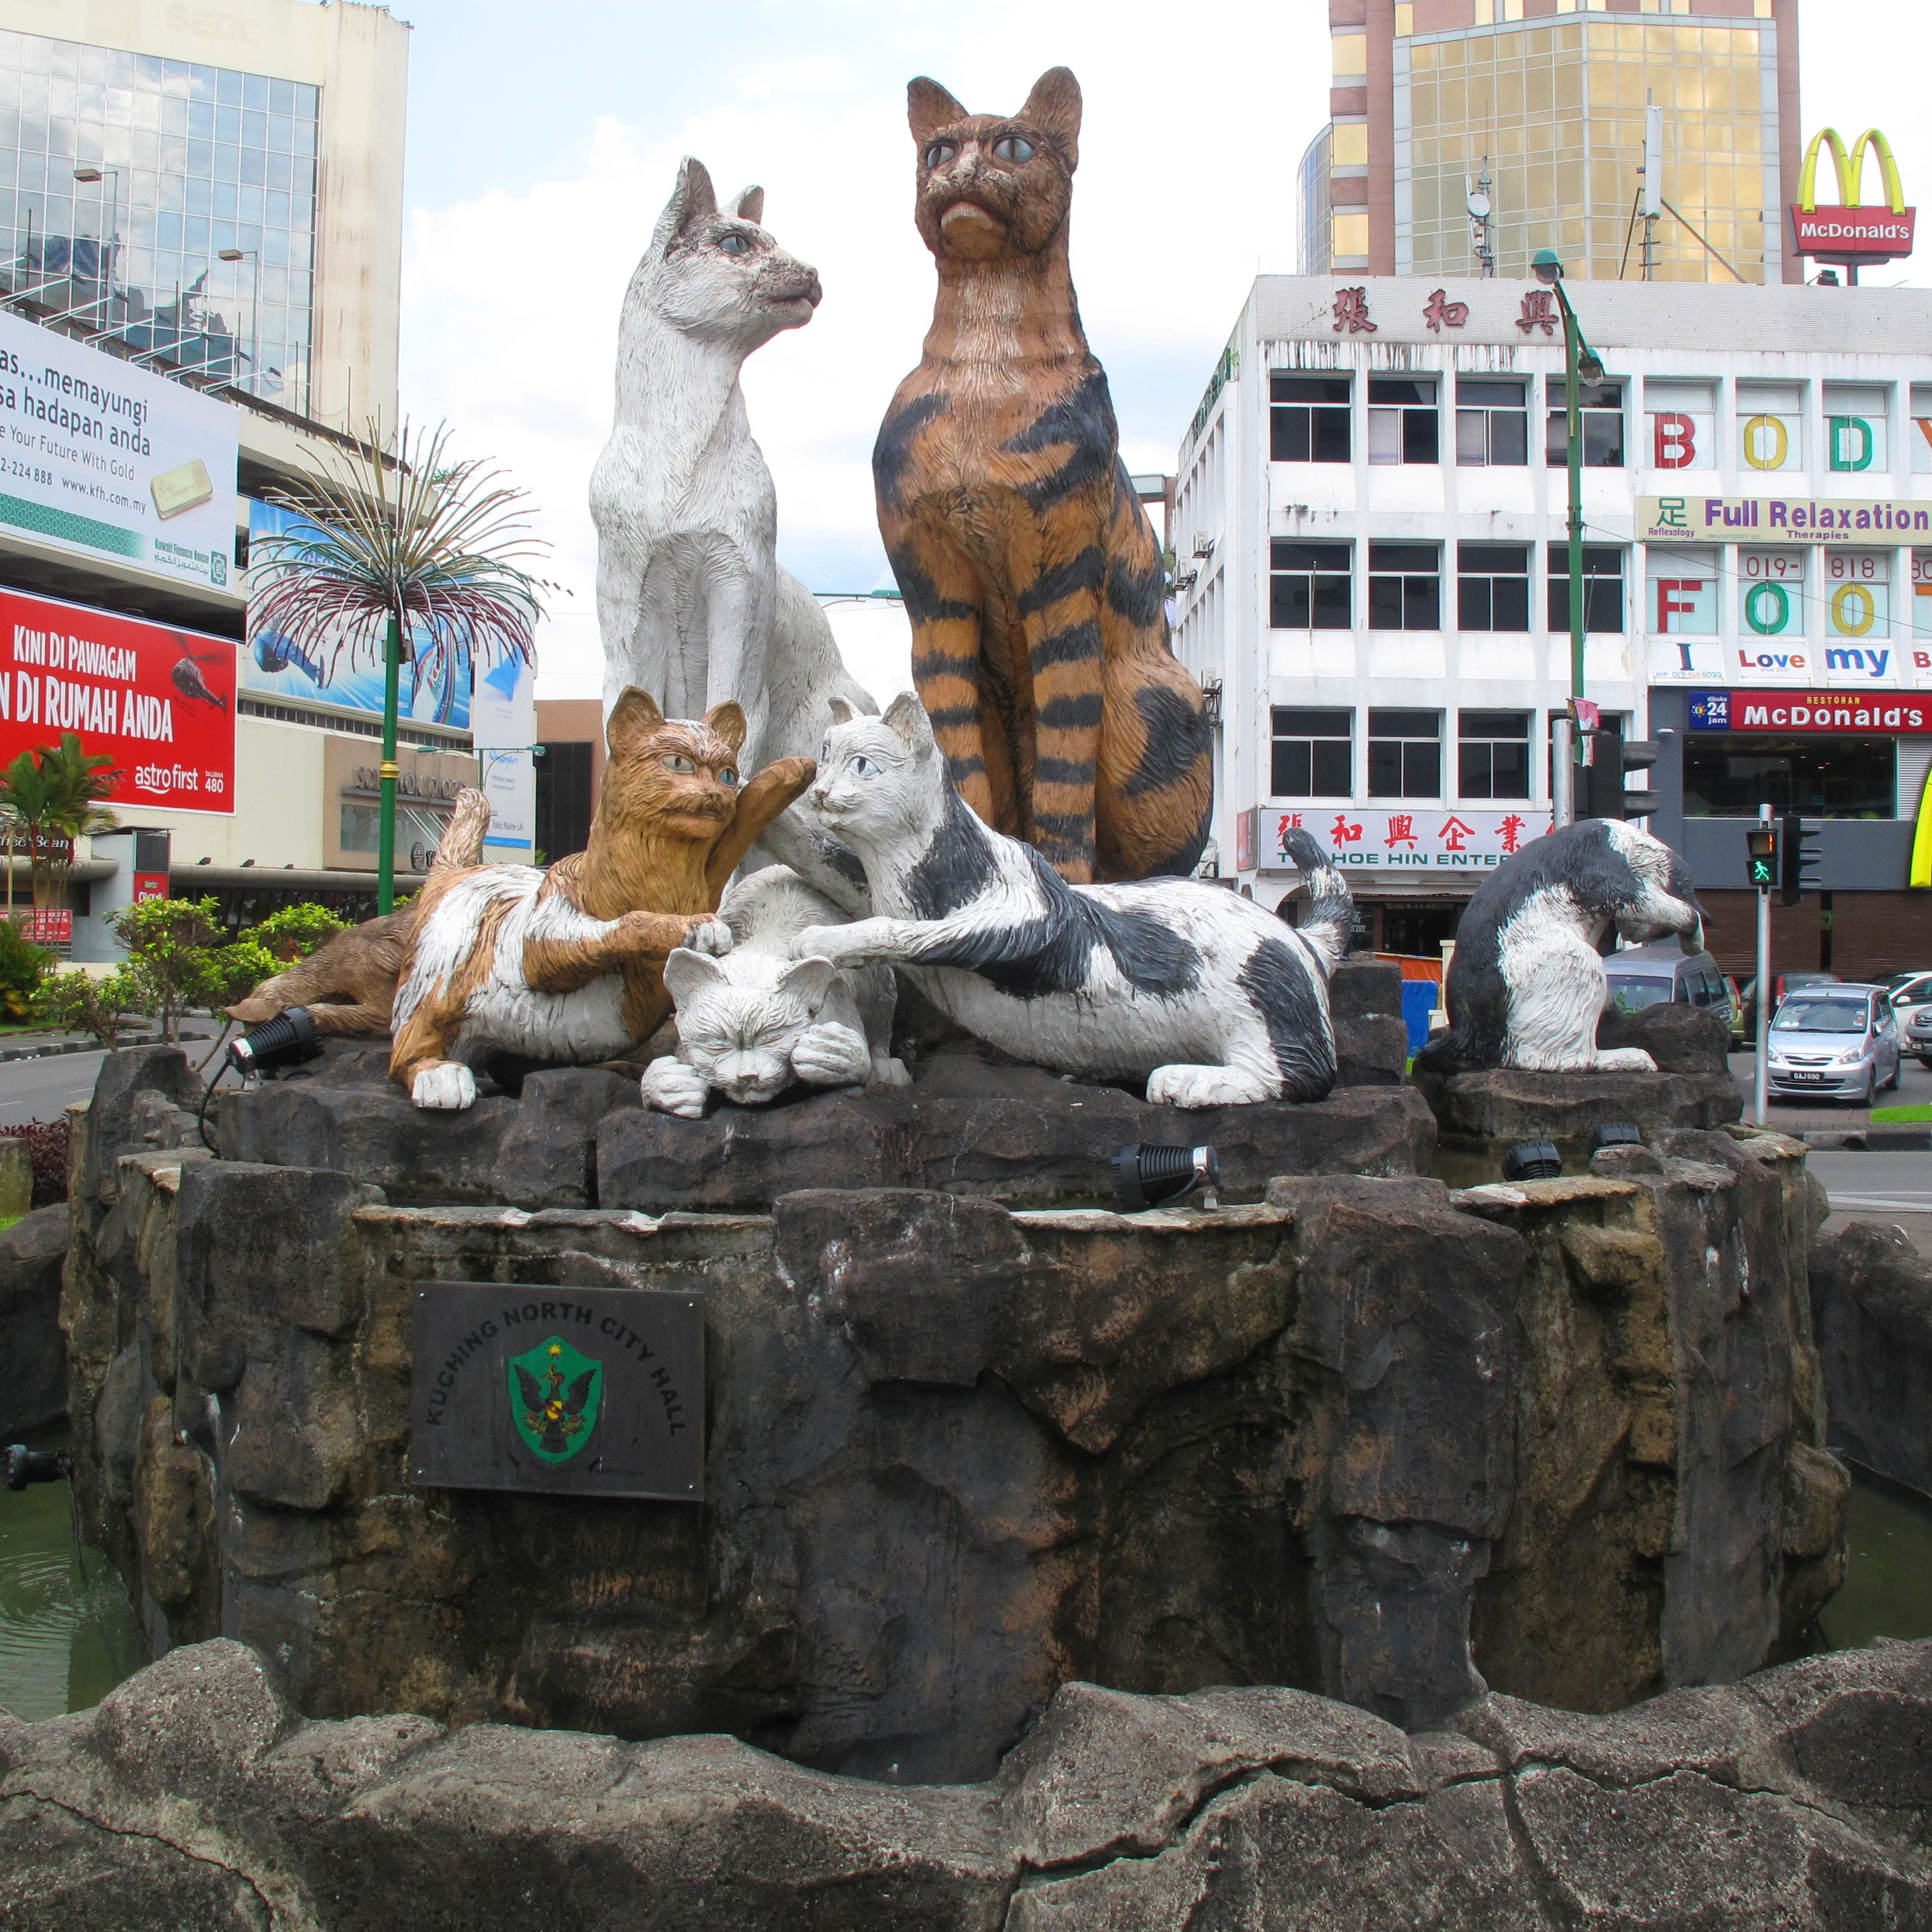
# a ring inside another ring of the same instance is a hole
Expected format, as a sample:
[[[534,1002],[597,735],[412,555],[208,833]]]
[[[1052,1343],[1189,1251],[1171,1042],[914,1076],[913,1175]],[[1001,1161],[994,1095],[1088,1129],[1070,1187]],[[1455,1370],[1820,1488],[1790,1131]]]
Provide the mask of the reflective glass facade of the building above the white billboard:
[[[0,290],[309,413],[319,108],[299,81],[0,33]]]

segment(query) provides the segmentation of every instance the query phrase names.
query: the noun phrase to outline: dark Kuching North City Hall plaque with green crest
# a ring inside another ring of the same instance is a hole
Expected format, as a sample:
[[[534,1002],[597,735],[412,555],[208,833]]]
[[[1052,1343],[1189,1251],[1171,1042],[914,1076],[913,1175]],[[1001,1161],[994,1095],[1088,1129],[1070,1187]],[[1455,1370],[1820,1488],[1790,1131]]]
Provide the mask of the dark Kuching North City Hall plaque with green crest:
[[[429,1281],[413,1331],[415,1482],[703,1501],[696,1294]]]

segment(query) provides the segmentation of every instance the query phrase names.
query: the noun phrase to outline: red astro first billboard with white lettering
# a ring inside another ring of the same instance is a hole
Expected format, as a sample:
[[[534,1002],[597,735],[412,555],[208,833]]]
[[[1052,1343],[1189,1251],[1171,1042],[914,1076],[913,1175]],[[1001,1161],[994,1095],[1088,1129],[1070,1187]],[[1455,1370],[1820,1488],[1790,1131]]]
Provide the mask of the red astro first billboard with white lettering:
[[[68,730],[118,806],[234,811],[236,645],[0,589],[0,765]]]

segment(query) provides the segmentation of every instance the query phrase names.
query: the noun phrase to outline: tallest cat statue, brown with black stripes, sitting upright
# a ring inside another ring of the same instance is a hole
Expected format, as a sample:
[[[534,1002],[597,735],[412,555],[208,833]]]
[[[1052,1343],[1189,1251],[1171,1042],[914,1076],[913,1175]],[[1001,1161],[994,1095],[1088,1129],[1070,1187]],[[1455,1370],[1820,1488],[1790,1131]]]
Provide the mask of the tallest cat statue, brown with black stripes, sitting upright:
[[[1192,871],[1202,692],[1066,267],[1080,83],[1053,68],[1012,116],[906,100],[939,299],[871,469],[947,775],[1076,885]]]

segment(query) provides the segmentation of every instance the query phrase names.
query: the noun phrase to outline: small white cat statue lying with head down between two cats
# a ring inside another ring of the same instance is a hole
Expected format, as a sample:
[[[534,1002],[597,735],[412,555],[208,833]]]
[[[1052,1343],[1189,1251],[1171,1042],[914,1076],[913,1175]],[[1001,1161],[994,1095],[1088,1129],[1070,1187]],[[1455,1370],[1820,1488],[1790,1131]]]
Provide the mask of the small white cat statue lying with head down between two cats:
[[[678,1051],[645,1066],[647,1107],[696,1121],[713,1090],[759,1107],[796,1080],[906,1086],[891,1057],[891,968],[792,956],[798,933],[844,918],[838,906],[788,866],[767,866],[730,887],[719,918],[732,933],[726,954],[680,947],[665,960]]]

